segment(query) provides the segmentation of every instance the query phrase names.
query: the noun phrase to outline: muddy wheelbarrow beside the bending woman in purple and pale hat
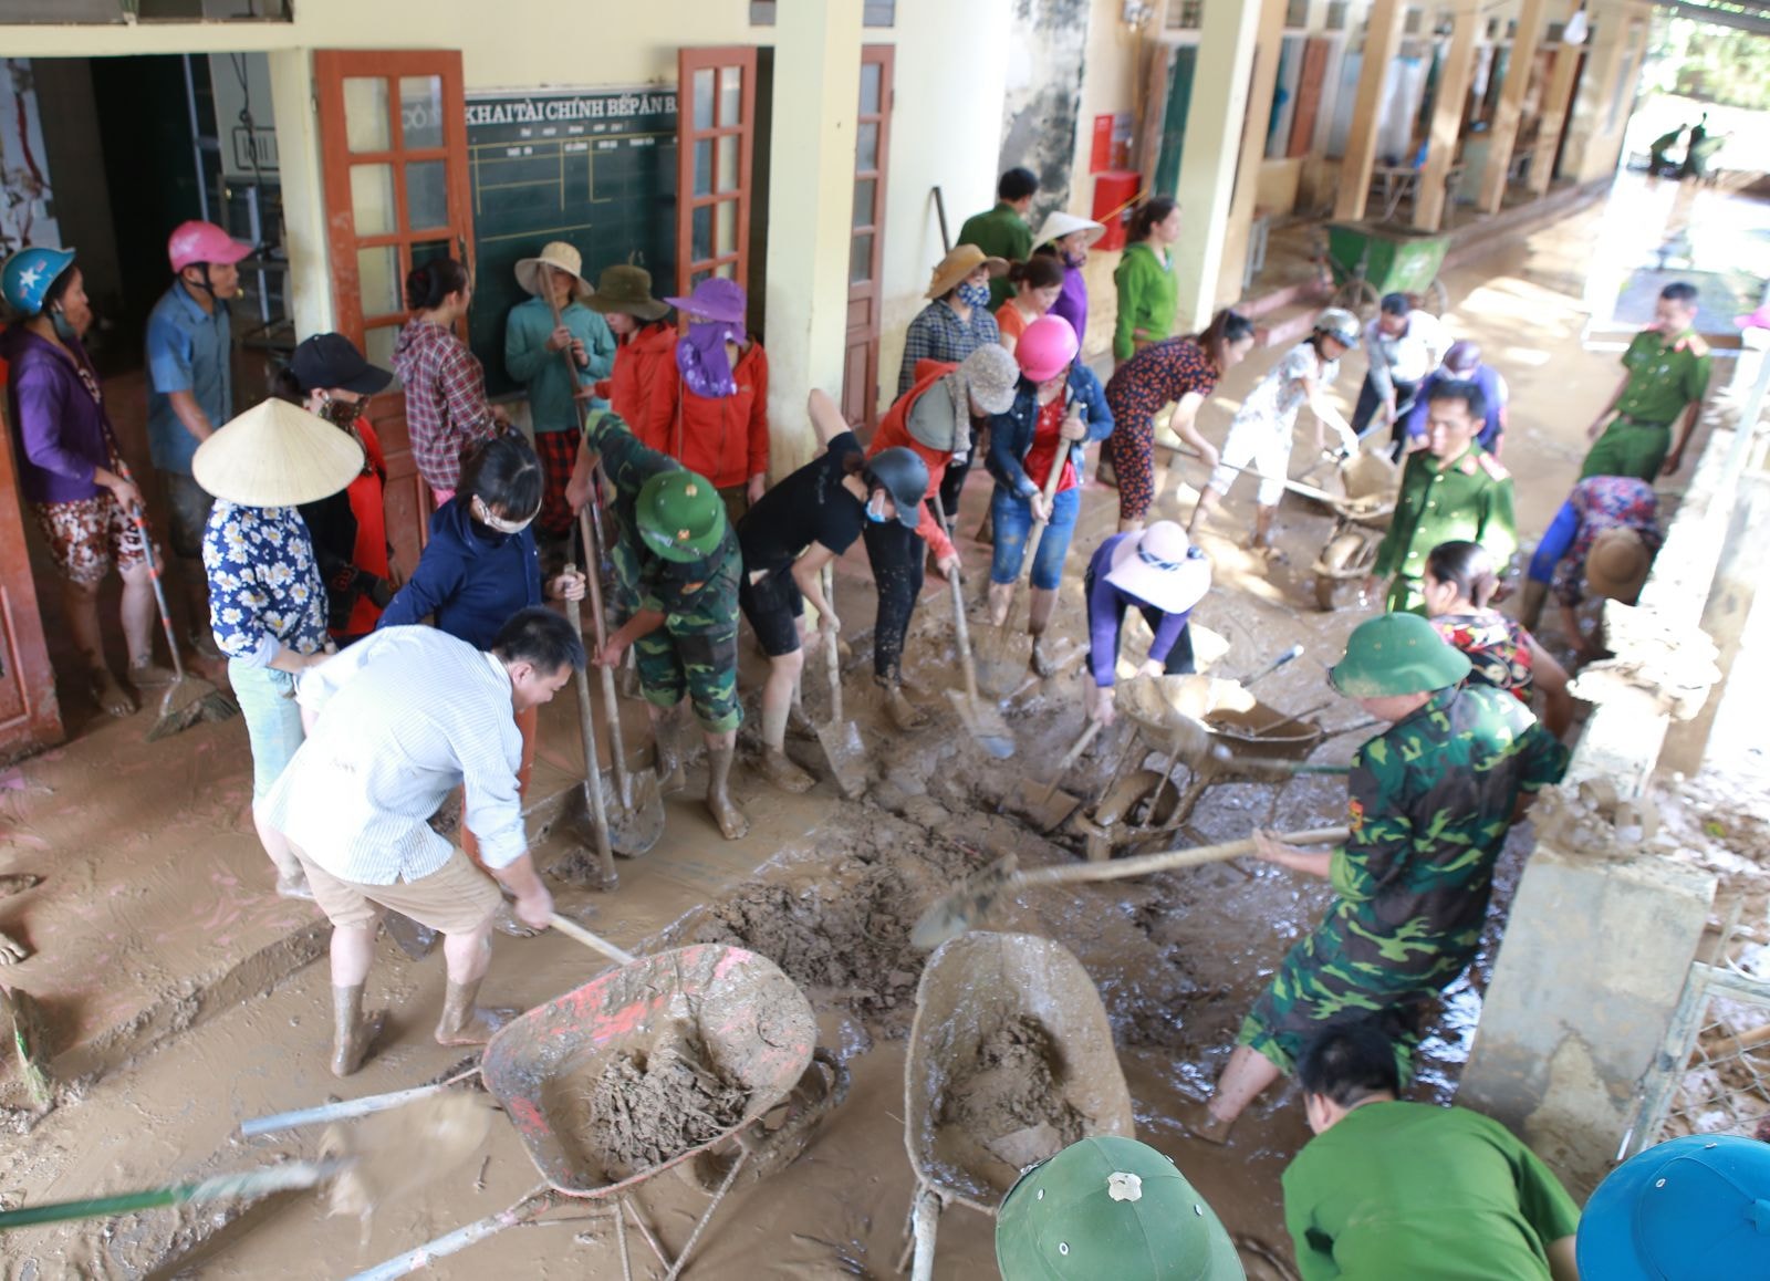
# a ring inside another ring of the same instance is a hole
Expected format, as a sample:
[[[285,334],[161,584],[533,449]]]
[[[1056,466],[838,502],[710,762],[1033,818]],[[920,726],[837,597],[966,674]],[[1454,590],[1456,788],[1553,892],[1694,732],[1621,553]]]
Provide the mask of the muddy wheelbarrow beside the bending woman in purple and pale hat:
[[[1136,681],[1126,694],[1131,697],[1119,715],[1131,722],[1131,740],[1094,809],[1071,819],[1094,862],[1145,842],[1172,844],[1170,833],[1191,819],[1205,791],[1223,782],[1273,782],[1274,766],[1304,761],[1326,738],[1312,720],[1320,708],[1287,715],[1223,678],[1161,676]],[[1150,757],[1161,763],[1149,768]],[[1182,768],[1184,784],[1175,768]],[[1278,782],[1281,791],[1289,773]]]

